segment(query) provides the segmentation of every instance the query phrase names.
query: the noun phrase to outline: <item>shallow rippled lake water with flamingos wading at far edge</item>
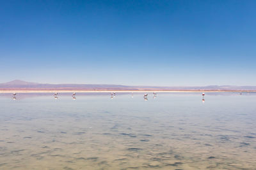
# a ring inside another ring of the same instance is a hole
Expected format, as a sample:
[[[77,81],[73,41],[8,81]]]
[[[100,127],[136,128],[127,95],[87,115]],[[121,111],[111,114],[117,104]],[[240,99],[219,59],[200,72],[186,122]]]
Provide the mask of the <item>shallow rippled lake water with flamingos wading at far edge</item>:
[[[143,95],[0,94],[0,169],[255,169],[255,94]]]

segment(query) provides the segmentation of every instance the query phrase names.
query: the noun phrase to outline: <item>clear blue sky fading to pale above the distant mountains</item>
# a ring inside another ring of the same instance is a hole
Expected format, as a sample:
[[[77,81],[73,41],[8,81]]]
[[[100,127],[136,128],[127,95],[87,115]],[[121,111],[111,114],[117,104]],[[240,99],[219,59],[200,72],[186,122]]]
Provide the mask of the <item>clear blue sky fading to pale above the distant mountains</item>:
[[[256,85],[255,7],[0,0],[0,82]]]

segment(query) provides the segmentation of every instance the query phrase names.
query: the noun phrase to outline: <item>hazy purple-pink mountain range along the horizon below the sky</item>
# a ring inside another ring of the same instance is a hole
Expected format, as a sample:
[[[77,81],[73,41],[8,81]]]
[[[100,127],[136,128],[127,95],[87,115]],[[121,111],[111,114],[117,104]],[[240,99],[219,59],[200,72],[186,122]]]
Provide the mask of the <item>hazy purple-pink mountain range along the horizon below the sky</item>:
[[[0,83],[0,90],[214,90],[214,91],[255,91],[256,86],[209,85],[205,87],[156,87],[105,84],[47,84],[13,80]]]

